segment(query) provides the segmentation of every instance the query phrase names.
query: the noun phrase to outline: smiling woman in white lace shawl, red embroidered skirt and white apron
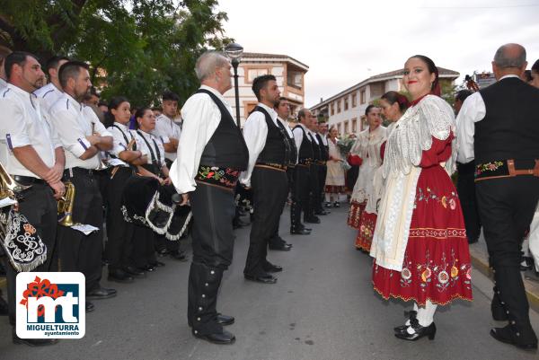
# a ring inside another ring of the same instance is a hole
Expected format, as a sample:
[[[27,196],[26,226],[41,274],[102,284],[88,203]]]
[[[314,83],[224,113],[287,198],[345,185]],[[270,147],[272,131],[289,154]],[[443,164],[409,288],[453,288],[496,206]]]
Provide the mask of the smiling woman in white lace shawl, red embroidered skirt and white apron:
[[[402,82],[411,107],[387,139],[386,180],[371,246],[373,285],[384,299],[413,301],[395,336],[434,339],[437,305],[472,300],[464,219],[449,174],[455,170],[455,115],[439,97],[429,57],[410,57]]]

